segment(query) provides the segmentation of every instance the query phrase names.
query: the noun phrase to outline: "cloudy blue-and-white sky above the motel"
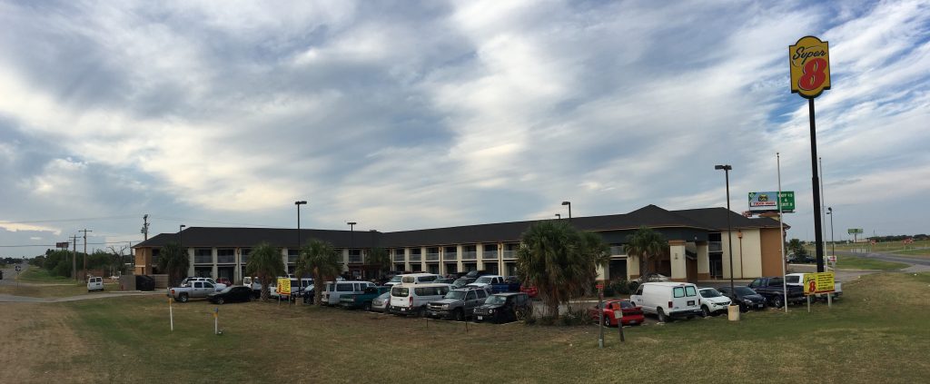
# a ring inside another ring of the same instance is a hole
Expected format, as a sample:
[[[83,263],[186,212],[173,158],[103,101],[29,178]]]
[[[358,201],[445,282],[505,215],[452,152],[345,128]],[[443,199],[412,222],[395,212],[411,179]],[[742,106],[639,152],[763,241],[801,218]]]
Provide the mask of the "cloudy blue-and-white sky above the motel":
[[[813,240],[805,35],[835,238],[930,233],[930,2],[662,3],[0,1],[0,257],[726,206],[723,164],[742,212],[779,157]]]

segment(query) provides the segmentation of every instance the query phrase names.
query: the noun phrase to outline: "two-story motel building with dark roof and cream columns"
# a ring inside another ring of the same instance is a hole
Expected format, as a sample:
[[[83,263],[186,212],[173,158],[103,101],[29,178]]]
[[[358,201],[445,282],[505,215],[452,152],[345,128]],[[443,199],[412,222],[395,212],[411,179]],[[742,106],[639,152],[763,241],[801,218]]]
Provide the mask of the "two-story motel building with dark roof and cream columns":
[[[730,271],[727,215],[733,229],[733,271]],[[562,218],[568,220],[568,218]],[[774,218],[746,218],[725,208],[669,211],[647,205],[627,214],[571,218],[571,224],[595,232],[610,245],[610,262],[599,269],[599,279],[635,279],[639,260],[627,255],[627,236],[641,225],[661,233],[669,242],[664,255],[655,258],[653,271],[674,281],[753,278],[780,275],[781,235]],[[160,248],[180,242],[191,258],[191,276],[225,277],[239,283],[246,272],[251,248],[266,242],[281,250],[289,272],[294,271],[299,245],[318,239],[341,254],[343,271],[355,278],[375,277],[378,268],[365,263],[367,253],[381,247],[391,255],[394,271],[447,274],[485,270],[515,274],[520,236],[534,220],[403,232],[351,232],[331,230],[190,227],[162,233],[135,245],[136,274],[158,271]],[[785,226],[788,228],[787,226]]]

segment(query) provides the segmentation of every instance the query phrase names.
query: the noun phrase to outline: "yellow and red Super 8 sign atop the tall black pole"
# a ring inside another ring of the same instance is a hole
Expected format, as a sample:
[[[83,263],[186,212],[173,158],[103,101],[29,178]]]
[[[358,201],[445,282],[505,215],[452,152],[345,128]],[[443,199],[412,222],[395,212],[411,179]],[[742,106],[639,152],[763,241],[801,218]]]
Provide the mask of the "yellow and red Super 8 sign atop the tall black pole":
[[[791,93],[814,99],[830,89],[830,43],[804,36],[788,47]]]

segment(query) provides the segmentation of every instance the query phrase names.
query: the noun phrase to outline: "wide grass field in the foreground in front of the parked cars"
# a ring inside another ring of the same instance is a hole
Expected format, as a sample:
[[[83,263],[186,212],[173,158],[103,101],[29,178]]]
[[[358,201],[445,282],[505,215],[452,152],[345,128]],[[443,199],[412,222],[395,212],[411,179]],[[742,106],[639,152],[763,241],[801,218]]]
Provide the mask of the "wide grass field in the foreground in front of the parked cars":
[[[0,343],[13,367],[0,382],[923,382],[928,286],[930,274],[873,274],[846,282],[831,310],[628,327],[624,344],[610,328],[603,350],[593,325],[470,324],[466,333],[464,324],[253,302],[219,307],[223,334],[214,336],[217,307],[203,301],[174,305],[173,333],[162,297],[5,303],[4,335],[61,341]]]

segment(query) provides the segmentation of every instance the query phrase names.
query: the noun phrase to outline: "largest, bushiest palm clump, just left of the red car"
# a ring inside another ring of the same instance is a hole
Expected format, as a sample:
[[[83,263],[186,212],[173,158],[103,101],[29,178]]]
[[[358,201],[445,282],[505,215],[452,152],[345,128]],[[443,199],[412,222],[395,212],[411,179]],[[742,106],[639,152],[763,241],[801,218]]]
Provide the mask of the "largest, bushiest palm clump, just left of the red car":
[[[606,262],[607,246],[595,233],[579,232],[567,220],[533,224],[521,236],[517,273],[526,285],[536,285],[551,316],[559,304],[591,288],[597,266]]]

